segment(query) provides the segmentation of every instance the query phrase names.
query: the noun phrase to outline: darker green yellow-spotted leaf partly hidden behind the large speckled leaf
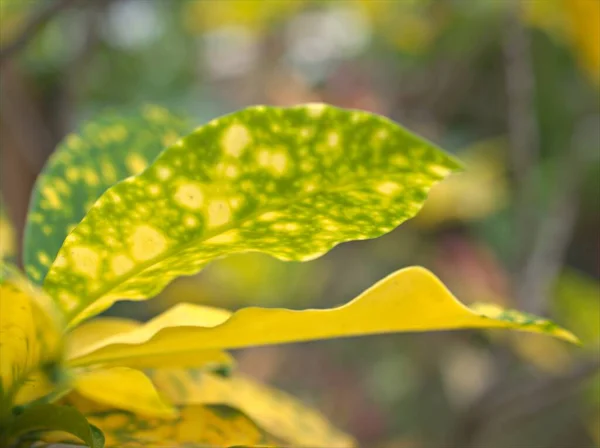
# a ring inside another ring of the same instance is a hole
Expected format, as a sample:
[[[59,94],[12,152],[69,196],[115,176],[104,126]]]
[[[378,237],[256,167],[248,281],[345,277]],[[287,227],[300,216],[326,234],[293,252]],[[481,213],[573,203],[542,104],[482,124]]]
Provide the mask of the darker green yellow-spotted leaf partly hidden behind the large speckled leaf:
[[[41,284],[72,228],[106,189],[142,171],[187,130],[158,106],[106,112],[68,135],[38,177],[24,235],[28,277]]]

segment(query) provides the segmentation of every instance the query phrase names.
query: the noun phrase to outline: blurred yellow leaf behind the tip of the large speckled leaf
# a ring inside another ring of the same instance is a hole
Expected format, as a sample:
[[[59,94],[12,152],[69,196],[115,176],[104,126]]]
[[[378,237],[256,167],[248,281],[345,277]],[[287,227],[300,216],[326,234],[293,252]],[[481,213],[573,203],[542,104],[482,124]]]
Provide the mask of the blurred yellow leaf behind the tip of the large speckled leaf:
[[[507,202],[503,141],[480,142],[460,152],[465,171],[431,190],[414,223],[432,227],[447,221],[471,221],[489,216]]]

